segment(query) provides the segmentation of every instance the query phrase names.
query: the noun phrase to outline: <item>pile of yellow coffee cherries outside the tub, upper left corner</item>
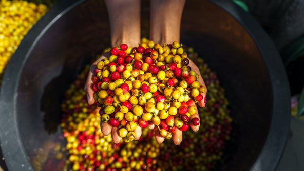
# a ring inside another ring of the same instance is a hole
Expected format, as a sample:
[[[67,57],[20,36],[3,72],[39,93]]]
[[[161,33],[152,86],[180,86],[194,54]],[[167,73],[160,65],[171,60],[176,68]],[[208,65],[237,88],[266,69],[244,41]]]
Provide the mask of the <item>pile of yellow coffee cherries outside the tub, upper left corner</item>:
[[[0,82],[4,69],[21,40],[47,10],[43,4],[0,1]]]

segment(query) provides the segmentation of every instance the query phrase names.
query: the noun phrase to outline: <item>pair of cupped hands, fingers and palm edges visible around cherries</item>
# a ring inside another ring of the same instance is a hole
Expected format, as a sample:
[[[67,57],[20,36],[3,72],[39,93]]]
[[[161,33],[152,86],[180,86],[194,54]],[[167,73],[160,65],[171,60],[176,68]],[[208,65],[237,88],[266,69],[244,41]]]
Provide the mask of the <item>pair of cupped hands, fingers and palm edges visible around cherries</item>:
[[[88,104],[90,104],[90,105],[95,103],[94,91],[92,90],[92,85],[93,85],[92,78],[94,76],[94,69],[96,68],[96,65],[99,61],[101,61],[105,58],[109,58],[110,56],[111,56],[110,52],[104,53],[90,67],[90,71],[89,71],[87,81],[85,84],[85,88],[84,88],[84,90],[87,92]],[[192,70],[194,70],[197,74],[199,74],[198,81],[200,82],[201,85],[206,87],[204,80],[200,74],[199,68],[193,63],[193,61],[191,61],[190,59],[189,59],[189,61],[190,62],[189,62],[188,66],[190,66]],[[205,104],[206,103],[205,102],[206,93],[207,93],[207,90],[204,93],[202,93],[203,100],[201,100],[197,103],[200,107],[205,107],[205,105],[206,105]],[[195,107],[197,109],[197,106],[195,106]],[[199,118],[198,110],[196,110],[195,114],[191,115],[190,120],[195,117]],[[112,136],[113,142],[115,142],[115,143],[121,142],[122,137],[119,136],[119,132],[118,132],[119,127],[112,127],[108,122],[102,122],[102,121],[100,123],[100,126],[101,126],[101,131],[104,135],[109,135],[110,133],[112,133],[111,136]],[[153,130],[153,129],[155,129],[155,127],[156,126],[153,123],[149,122],[149,129]],[[199,130],[200,124],[195,126],[190,122],[190,127],[194,132],[197,132]],[[136,129],[134,130],[134,133],[135,133],[135,140],[139,140],[139,138],[141,137],[141,134],[142,134],[142,127],[138,125],[136,127]],[[160,136],[159,130],[157,128],[155,129],[155,137],[156,137],[156,140],[158,143],[162,143],[165,140],[164,137]],[[179,129],[176,129],[176,131],[173,133],[172,140],[173,140],[174,144],[179,145],[182,141],[182,131]]]

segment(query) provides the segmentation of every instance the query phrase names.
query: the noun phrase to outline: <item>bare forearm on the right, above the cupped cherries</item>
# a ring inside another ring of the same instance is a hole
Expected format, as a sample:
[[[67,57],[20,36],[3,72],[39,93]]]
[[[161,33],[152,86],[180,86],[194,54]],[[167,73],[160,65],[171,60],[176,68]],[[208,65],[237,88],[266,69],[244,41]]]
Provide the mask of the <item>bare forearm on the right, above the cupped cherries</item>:
[[[179,41],[185,0],[153,0],[150,2],[150,39],[161,45]]]

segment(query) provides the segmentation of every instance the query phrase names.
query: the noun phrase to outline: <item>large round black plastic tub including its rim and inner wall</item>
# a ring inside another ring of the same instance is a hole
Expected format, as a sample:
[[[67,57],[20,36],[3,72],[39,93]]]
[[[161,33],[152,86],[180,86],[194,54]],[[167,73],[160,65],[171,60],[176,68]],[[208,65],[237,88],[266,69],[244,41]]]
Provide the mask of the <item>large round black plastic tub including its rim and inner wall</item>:
[[[144,36],[149,32],[146,7]],[[37,150],[48,152],[61,134],[63,92],[84,64],[110,45],[109,39],[105,4],[95,0],[62,1],[25,36],[1,86],[0,140],[8,169],[42,169],[33,163],[43,157],[32,156]],[[268,35],[230,1],[187,1],[181,42],[218,73],[230,102],[232,140],[217,169],[274,170],[291,109],[284,66]]]

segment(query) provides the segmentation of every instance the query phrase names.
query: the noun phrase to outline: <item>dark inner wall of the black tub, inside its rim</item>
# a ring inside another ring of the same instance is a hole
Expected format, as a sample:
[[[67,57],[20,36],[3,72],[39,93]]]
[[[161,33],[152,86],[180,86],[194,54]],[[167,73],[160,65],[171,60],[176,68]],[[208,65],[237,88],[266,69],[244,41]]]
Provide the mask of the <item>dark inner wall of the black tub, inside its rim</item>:
[[[148,3],[143,3],[147,6],[142,5],[142,32],[148,33]],[[255,42],[240,23],[209,1],[187,1],[181,42],[194,47],[218,73],[230,102],[232,140],[218,169],[248,170],[264,145],[272,113],[269,74]],[[71,9],[37,42],[24,64],[16,98],[20,136],[32,163],[42,163],[35,156],[37,150],[47,154],[61,134],[64,91],[83,66],[109,45],[108,15],[101,1]]]

